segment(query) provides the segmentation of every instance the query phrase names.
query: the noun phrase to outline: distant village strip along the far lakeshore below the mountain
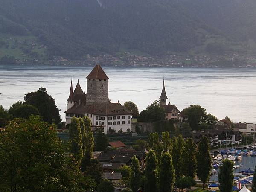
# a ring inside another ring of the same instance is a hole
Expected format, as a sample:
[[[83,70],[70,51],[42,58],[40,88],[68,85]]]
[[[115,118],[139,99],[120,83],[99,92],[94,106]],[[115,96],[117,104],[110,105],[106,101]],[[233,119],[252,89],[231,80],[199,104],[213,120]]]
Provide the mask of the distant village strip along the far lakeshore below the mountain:
[[[166,55],[166,56],[139,56],[125,52],[120,56],[114,55],[86,55],[79,61],[69,61],[67,58],[56,57],[54,64],[60,65],[88,65],[99,59],[104,66],[111,67],[230,67],[230,68],[255,68],[256,56],[239,54],[224,55]]]

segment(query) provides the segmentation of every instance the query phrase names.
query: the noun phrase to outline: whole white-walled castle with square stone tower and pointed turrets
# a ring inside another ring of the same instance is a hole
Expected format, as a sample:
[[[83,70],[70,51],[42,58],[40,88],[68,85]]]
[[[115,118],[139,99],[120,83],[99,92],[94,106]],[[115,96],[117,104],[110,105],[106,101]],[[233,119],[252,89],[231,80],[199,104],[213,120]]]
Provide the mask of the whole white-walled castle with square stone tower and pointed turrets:
[[[67,111],[64,112],[66,113],[66,125],[71,123],[73,116],[88,116],[93,128],[102,126],[105,134],[108,134],[110,130],[131,131],[132,112],[122,106],[119,101],[110,102],[108,98],[109,78],[102,67],[96,64],[86,79],[86,94],[79,81],[73,91],[71,80]]]

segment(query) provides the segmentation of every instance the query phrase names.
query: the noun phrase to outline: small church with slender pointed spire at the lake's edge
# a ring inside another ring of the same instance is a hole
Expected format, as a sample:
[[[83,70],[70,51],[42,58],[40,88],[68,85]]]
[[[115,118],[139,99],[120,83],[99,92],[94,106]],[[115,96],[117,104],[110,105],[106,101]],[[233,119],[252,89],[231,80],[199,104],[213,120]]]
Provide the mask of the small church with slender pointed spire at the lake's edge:
[[[180,111],[175,105],[171,105],[169,102],[168,105],[166,105],[166,99],[168,99],[166,95],[165,85],[164,85],[164,79],[163,79],[163,88],[162,93],[160,96],[161,106],[165,109],[165,120],[178,120],[180,119]]]

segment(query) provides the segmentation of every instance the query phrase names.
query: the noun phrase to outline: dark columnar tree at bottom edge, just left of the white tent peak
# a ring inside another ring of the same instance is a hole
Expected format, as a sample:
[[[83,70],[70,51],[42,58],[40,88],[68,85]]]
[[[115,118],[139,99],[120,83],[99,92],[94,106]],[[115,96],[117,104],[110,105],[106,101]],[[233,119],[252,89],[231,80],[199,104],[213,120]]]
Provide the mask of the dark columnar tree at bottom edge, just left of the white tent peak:
[[[220,192],[233,192],[233,166],[234,163],[228,159],[225,159],[220,166],[218,172],[218,180],[220,183]]]

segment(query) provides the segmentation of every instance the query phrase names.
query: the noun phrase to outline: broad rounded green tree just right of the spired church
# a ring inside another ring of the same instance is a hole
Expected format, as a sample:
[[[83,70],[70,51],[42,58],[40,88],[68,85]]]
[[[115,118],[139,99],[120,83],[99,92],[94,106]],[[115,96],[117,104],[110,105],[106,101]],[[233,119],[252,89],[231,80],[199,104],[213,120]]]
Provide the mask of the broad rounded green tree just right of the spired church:
[[[198,130],[198,124],[206,117],[205,109],[200,105],[190,105],[183,110],[184,116],[188,117],[189,125],[192,130]]]

